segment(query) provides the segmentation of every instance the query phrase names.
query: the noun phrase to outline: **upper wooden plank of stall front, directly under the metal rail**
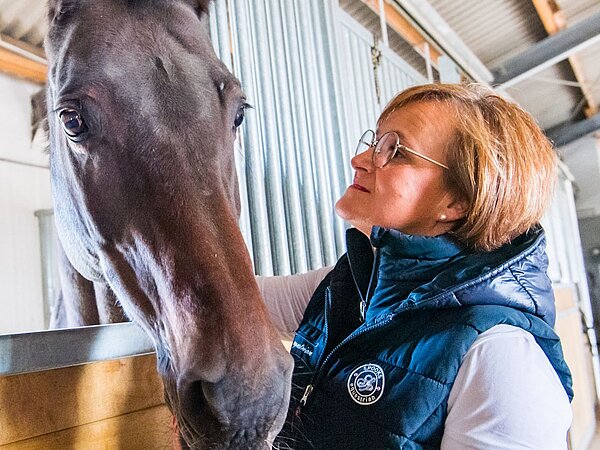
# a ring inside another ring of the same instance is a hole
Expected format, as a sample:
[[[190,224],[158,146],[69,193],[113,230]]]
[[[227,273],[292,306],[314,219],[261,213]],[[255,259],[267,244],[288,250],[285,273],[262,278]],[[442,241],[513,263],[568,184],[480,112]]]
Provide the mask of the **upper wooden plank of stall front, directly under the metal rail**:
[[[154,355],[0,377],[0,445],[162,403]]]

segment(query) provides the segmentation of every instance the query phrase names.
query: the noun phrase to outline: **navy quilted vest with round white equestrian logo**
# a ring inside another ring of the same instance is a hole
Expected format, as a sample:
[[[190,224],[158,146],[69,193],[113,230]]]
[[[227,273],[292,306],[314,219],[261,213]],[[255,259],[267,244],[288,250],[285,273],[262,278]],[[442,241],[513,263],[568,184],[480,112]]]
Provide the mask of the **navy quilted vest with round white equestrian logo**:
[[[356,230],[347,240],[348,253],[316,290],[292,343],[292,398],[279,448],[439,448],[462,357],[498,324],[531,333],[572,398],[552,329],[541,228],[476,254],[447,237],[381,228],[374,228],[371,242]],[[407,263],[396,247],[419,258]],[[363,321],[365,296],[371,299]]]

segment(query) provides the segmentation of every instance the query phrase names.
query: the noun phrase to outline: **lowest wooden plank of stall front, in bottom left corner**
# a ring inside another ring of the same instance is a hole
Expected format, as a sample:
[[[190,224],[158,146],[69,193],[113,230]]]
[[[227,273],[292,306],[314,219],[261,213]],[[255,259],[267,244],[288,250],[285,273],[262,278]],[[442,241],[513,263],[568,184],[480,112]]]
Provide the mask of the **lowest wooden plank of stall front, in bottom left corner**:
[[[173,448],[173,438],[171,413],[162,405],[0,445],[0,450],[165,450]]]

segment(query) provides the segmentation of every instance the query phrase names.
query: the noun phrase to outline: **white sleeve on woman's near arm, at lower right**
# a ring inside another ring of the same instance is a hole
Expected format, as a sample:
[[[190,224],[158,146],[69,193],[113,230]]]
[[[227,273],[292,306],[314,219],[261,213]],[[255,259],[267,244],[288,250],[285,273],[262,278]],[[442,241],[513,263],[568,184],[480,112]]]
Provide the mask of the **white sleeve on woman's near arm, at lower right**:
[[[566,450],[572,410],[533,336],[497,325],[465,354],[448,398],[442,450]]]

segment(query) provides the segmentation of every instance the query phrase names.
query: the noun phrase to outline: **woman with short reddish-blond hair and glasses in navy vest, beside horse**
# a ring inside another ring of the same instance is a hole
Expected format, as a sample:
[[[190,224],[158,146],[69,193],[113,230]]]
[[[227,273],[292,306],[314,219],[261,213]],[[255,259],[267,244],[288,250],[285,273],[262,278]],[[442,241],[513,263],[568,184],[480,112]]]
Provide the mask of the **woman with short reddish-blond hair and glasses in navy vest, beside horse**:
[[[347,254],[259,279],[296,331],[280,447],[566,449],[571,377],[538,224],[556,156],[533,119],[482,86],[417,86],[352,167],[336,205]]]

